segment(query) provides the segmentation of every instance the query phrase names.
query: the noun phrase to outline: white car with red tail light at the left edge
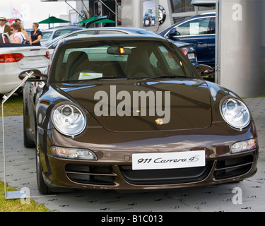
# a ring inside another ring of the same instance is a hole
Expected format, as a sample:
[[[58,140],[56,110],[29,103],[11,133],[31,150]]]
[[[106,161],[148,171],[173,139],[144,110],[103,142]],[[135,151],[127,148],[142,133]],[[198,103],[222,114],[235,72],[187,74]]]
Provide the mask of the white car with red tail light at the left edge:
[[[13,44],[6,38],[4,42],[2,37],[4,35],[0,34],[0,95],[9,93],[20,83],[21,71],[38,69],[44,72],[50,58],[47,47]]]

